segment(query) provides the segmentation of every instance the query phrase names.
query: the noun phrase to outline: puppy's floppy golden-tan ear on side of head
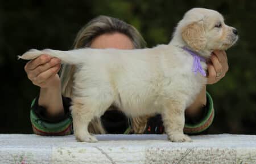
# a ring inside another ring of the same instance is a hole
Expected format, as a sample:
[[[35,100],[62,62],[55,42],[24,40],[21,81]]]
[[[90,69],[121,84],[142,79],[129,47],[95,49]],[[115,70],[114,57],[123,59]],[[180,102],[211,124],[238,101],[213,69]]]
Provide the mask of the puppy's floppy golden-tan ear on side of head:
[[[204,49],[206,38],[203,20],[194,21],[185,26],[181,32],[181,36],[193,50],[199,51]]]

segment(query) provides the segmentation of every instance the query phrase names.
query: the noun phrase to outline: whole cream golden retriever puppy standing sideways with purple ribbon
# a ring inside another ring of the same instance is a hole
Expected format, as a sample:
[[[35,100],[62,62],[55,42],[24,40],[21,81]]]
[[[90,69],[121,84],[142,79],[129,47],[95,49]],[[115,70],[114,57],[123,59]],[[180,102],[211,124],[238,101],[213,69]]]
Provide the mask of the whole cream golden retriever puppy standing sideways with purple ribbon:
[[[19,58],[42,54],[76,64],[72,116],[78,141],[96,142],[87,128],[110,105],[129,116],[162,114],[168,138],[191,141],[184,135],[184,110],[207,83],[205,59],[213,50],[226,50],[238,39],[237,30],[220,13],[205,8],[189,10],[168,45],[148,49],[76,49],[27,51]]]

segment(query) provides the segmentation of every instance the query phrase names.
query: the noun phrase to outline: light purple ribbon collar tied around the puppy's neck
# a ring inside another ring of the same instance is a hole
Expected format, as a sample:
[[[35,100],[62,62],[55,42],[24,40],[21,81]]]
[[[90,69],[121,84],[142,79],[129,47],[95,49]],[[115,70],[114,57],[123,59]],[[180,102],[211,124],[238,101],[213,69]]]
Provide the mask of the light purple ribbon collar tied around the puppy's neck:
[[[206,76],[206,73],[205,73],[205,71],[204,71],[204,69],[203,69],[203,67],[201,66],[201,63],[200,63],[200,61],[205,62],[205,59],[203,57],[200,57],[194,51],[189,50],[185,46],[182,49],[187,51],[189,54],[191,54],[194,57],[192,71],[195,73],[195,75],[197,74],[197,72],[199,72],[201,75]]]

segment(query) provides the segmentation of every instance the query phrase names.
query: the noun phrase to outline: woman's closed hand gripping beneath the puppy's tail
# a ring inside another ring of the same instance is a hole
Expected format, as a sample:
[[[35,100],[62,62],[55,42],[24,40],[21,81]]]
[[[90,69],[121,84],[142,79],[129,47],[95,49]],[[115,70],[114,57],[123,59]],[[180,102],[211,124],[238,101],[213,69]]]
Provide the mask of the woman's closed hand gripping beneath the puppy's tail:
[[[49,55],[40,55],[29,61],[24,70],[28,79],[34,85],[41,88],[51,88],[60,85],[60,77],[57,74],[60,70],[60,59],[52,58]]]

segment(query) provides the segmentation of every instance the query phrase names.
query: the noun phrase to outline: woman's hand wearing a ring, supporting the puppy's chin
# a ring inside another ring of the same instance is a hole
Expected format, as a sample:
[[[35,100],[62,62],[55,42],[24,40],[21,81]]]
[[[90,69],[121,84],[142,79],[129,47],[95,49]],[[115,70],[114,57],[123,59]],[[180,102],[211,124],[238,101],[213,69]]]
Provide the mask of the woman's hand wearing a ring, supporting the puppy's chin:
[[[226,52],[223,50],[214,50],[207,65],[207,84],[217,83],[226,75],[229,69]]]

